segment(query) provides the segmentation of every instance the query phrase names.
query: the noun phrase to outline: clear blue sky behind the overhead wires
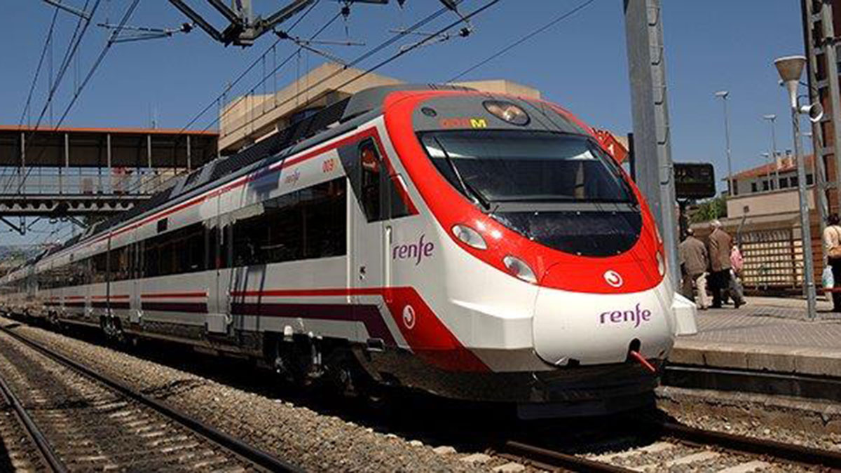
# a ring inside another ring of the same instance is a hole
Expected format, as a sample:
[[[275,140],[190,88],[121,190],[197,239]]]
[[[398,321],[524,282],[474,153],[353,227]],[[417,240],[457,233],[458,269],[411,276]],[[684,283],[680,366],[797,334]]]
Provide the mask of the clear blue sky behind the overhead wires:
[[[90,3],[94,3],[91,0]],[[473,20],[470,37],[454,38],[419,48],[384,66],[380,73],[411,82],[441,82],[467,66],[499,50],[510,41],[569,11],[584,0],[502,0]],[[83,0],[64,0],[82,7]],[[118,23],[128,0],[102,0],[96,20]],[[201,0],[188,3],[221,25]],[[255,8],[267,13],[278,2],[255,0]],[[777,56],[802,54],[800,2],[797,0],[664,0],[664,34],[667,55],[669,109],[672,125],[672,155],[675,161],[713,162],[717,175],[726,173],[722,104],[717,90],[730,91],[730,121],[733,169],[760,164],[760,153],[770,147],[769,125],[763,114],[777,114],[778,147],[791,147],[791,125],[785,120],[785,93],[777,85],[772,61]],[[466,0],[465,12],[484,0]],[[321,0],[294,31],[309,35],[341,7]],[[357,4],[347,22],[332,24],[320,36],[329,40],[362,40],[364,47],[332,47],[331,52],[352,58],[387,38],[390,28],[408,26],[439,8],[432,0],[408,0],[400,10],[397,2],[387,6]],[[16,125],[24,108],[41,47],[54,8],[36,0],[18,0],[5,5],[0,16],[3,75],[0,78],[0,124]],[[437,29],[452,21],[446,15],[431,24]],[[129,24],[175,26],[186,21],[170,3],[142,2]],[[291,23],[291,22],[290,22]],[[76,24],[69,13],[60,12],[56,22],[55,68]],[[64,86],[56,96],[56,118],[65,109],[71,88],[80,82],[101,50],[107,32],[91,26],[69,68]],[[156,116],[159,127],[181,128],[193,114],[212,101],[227,82],[274,42],[265,35],[250,49],[225,48],[200,30],[170,39],[114,45],[92,82],[71,109],[65,125],[148,126]],[[360,66],[369,66],[394,52],[384,50]],[[277,57],[287,56],[294,45],[282,42]],[[317,66],[322,59],[312,54],[291,61],[277,77],[278,88],[294,80],[296,72]],[[268,56],[267,66],[272,64]],[[246,77],[234,93],[245,93],[262,73]],[[45,100],[42,80],[34,94],[32,121]],[[78,77],[78,78],[77,78]],[[621,0],[595,0],[587,8],[553,26],[532,40],[510,50],[464,80],[506,78],[542,91],[545,98],[562,104],[590,125],[618,133],[631,130],[630,92],[627,78],[625,29]],[[272,88],[275,79],[268,81]],[[246,85],[247,84],[247,85]],[[262,92],[262,87],[258,88]],[[197,123],[212,125],[213,111]],[[25,123],[26,120],[24,120]],[[17,237],[3,234],[3,240]],[[7,238],[8,237],[8,238]],[[22,239],[31,240],[30,238]]]

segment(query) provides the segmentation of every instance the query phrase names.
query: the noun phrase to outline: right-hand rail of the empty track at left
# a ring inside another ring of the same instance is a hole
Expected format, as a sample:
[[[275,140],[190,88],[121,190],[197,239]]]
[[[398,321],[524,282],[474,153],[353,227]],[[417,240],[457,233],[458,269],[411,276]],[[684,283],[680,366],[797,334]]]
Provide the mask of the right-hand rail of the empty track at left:
[[[304,471],[298,466],[292,465],[291,463],[288,463],[284,460],[280,460],[278,459],[278,457],[272,454],[269,454],[261,449],[257,449],[249,444],[246,444],[239,438],[235,438],[227,433],[217,430],[216,428],[210,427],[209,425],[198,421],[198,419],[189,416],[184,412],[179,412],[173,409],[172,407],[167,406],[167,404],[161,401],[157,401],[156,399],[150,396],[146,396],[145,394],[135,391],[128,385],[124,385],[118,380],[114,380],[114,378],[111,378],[107,375],[103,375],[101,373],[97,373],[93,369],[89,369],[87,368],[87,366],[73,361],[72,359],[67,358],[61,353],[53,352],[52,350],[50,350],[50,348],[46,348],[40,343],[34,342],[29,338],[20,335],[19,333],[9,330],[8,327],[0,326],[0,331],[7,333],[9,336],[13,337],[21,343],[24,343],[24,345],[26,346],[34,348],[34,350],[38,351],[39,353],[45,354],[50,359],[54,359],[59,364],[62,364],[67,368],[73,369],[92,380],[102,383],[103,385],[107,385],[114,391],[118,391],[120,394],[129,397],[134,401],[138,401],[147,407],[151,407],[157,412],[160,412],[162,415],[177,421],[177,423],[181,423],[183,426],[189,428],[193,432],[198,433],[204,436],[205,438],[209,438],[214,443],[225,447],[225,449],[229,449],[231,452],[240,455],[242,458],[249,460],[255,463],[256,465],[260,465],[262,468],[265,468],[270,471]]]

